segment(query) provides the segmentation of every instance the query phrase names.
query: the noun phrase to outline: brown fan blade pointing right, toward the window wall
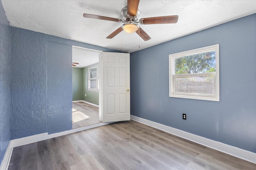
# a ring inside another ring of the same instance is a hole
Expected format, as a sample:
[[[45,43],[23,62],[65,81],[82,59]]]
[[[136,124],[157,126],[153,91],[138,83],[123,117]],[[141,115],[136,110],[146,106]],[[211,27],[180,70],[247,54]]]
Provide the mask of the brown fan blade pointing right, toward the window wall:
[[[178,18],[177,15],[141,18],[140,24],[173,24],[178,22]]]

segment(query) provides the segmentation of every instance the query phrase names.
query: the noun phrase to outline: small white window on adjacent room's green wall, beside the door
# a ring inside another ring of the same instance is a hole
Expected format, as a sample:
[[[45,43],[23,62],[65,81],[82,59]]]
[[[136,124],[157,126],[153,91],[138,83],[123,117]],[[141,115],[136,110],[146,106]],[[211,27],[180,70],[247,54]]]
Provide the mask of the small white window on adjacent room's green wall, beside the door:
[[[88,72],[88,90],[98,91],[98,66],[90,67],[87,70]]]

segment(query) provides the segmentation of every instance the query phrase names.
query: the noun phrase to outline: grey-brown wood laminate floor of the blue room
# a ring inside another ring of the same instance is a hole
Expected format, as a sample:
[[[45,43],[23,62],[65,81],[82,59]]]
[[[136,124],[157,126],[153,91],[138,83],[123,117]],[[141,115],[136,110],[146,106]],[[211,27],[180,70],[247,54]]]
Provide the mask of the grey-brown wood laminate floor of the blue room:
[[[13,149],[8,170],[256,170],[256,164],[135,121]]]

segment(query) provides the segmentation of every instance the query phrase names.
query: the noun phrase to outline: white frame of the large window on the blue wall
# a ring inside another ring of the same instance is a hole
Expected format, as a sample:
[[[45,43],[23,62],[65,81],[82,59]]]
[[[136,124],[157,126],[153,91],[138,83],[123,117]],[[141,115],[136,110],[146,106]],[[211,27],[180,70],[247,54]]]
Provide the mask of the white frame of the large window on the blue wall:
[[[208,51],[215,50],[215,72],[210,73],[193,73],[193,74],[175,74],[175,63],[174,58],[184,57],[188,55],[204,53]],[[199,75],[213,75],[214,76],[214,94],[196,94],[196,93],[176,93],[175,89],[175,77],[188,77],[188,76],[199,76]],[[210,45],[207,47],[192,49],[188,51],[183,51],[180,53],[174,53],[169,55],[169,97],[178,97],[186,99],[198,99],[198,100],[208,100],[208,101],[220,101],[220,73],[219,73],[219,44]]]

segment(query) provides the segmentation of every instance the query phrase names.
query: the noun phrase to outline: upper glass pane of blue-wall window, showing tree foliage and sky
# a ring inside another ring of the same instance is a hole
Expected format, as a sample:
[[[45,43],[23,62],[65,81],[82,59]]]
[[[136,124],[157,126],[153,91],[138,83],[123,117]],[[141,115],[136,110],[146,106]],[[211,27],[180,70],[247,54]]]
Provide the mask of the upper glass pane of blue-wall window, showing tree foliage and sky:
[[[175,74],[215,72],[215,50],[183,57],[175,57]]]

